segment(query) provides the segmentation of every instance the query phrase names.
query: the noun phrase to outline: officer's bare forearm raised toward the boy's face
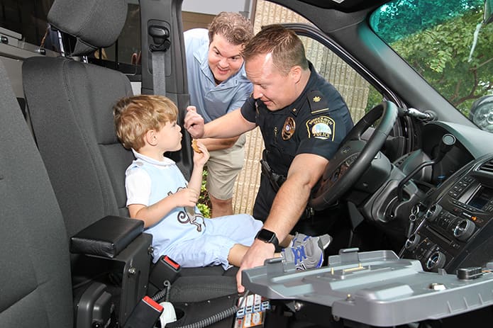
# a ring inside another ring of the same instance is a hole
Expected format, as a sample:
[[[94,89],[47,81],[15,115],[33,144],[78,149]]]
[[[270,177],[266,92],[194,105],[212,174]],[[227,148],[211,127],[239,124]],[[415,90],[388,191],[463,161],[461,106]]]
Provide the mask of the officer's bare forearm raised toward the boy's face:
[[[204,136],[211,138],[238,137],[244,132],[253,130],[255,123],[245,120],[240,109],[227,113],[204,125]]]

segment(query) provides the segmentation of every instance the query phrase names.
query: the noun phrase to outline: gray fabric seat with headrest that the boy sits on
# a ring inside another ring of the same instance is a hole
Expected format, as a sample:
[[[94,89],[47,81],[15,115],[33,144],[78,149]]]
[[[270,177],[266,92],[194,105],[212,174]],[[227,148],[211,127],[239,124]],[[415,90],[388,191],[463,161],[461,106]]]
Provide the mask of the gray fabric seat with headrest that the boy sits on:
[[[79,4],[57,0],[48,15],[52,26],[77,38],[72,55],[113,43],[126,18],[126,2]],[[101,13],[108,16],[102,21],[113,23],[101,26]],[[95,33],[96,26],[104,33]],[[111,108],[132,94],[130,81],[113,69],[67,57],[32,57],[23,64],[23,85],[35,140],[68,235],[106,215],[128,217],[124,181],[133,154],[118,142]],[[224,273],[219,266],[182,270],[192,278],[174,283],[172,300],[190,302],[234,293],[234,272]]]

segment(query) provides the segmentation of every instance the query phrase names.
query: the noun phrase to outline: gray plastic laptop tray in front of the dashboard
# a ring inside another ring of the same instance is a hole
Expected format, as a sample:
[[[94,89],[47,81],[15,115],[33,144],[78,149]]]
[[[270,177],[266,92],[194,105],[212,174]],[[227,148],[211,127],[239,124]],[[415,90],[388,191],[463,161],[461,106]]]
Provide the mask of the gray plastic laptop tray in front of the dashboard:
[[[270,259],[243,271],[247,290],[270,300],[297,300],[331,307],[334,317],[387,327],[441,319],[493,304],[493,273],[471,268],[476,278],[423,271],[418,260],[393,251],[343,249],[329,265],[297,271]],[[469,270],[469,268],[467,268]]]

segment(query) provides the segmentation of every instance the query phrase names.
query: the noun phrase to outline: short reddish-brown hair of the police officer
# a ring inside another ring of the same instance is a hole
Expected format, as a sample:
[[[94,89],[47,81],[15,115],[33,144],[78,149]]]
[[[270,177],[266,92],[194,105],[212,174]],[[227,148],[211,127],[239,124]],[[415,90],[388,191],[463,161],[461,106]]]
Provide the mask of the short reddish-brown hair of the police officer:
[[[298,35],[284,26],[274,24],[264,26],[249,43],[245,45],[241,55],[245,62],[257,55],[272,53],[275,67],[288,74],[294,66],[308,69],[305,48]]]

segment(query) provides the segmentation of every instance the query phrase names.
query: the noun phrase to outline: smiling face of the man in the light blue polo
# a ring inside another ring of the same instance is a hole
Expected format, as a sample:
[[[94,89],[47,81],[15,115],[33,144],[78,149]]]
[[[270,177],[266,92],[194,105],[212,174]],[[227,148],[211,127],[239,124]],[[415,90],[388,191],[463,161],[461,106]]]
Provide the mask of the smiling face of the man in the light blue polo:
[[[243,57],[240,55],[242,47],[243,45],[229,43],[223,35],[214,35],[209,45],[208,61],[216,84],[221,84],[240,70],[243,64]]]

